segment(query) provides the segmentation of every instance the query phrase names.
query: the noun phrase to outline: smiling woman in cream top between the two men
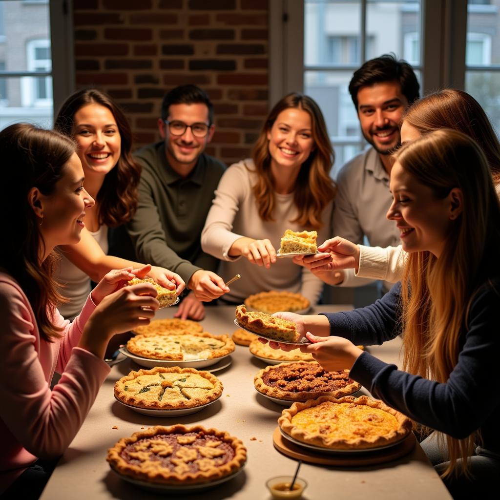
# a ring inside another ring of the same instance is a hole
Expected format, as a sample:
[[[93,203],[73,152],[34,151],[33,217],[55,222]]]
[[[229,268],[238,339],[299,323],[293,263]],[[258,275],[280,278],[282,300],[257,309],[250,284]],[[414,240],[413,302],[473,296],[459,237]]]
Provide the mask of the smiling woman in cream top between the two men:
[[[317,301],[322,283],[291,259],[276,260],[275,246],[285,229],[317,230],[320,241],[331,233],[332,163],[316,102],[285,95],[267,116],[252,159],[223,174],[201,234],[203,251],[222,260],[223,277],[244,276],[232,284],[228,301],[241,303],[266,289],[300,291]]]

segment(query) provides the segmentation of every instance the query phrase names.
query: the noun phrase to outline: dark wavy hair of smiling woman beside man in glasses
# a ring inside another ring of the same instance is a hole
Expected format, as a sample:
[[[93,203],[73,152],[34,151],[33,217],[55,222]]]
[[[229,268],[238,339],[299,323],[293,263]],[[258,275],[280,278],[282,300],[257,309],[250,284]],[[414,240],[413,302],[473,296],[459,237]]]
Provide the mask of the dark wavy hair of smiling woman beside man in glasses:
[[[57,113],[55,130],[72,137],[74,115],[78,109],[88,104],[107,107],[116,120],[121,137],[121,153],[118,162],[104,177],[104,182],[95,199],[99,224],[113,227],[128,222],[135,213],[140,165],[130,153],[132,132],[123,111],[109,95],[100,90],[83,89],[70,95]]]

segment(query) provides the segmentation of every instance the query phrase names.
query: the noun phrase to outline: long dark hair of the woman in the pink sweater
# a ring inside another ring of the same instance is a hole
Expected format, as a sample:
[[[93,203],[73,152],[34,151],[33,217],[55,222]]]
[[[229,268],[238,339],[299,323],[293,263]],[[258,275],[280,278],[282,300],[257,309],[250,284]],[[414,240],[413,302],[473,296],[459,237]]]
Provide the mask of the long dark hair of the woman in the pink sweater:
[[[0,132],[0,150],[5,168],[5,189],[0,211],[2,229],[8,237],[0,245],[0,267],[10,274],[26,294],[34,312],[40,337],[52,341],[62,328],[52,323],[51,311],[64,301],[52,279],[54,252],[40,262],[45,252],[38,220],[28,203],[28,192],[37,187],[50,195],[64,174],[64,165],[76,150],[68,137],[28,123],[16,123]]]

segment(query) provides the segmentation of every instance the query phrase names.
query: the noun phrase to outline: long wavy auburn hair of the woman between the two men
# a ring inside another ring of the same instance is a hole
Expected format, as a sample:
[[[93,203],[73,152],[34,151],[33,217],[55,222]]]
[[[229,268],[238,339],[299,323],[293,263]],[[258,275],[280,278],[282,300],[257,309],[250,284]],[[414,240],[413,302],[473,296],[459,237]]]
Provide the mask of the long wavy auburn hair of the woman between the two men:
[[[271,172],[271,155],[267,132],[281,111],[295,107],[307,111],[311,117],[314,148],[302,163],[293,191],[298,215],[292,222],[311,229],[323,225],[321,213],[326,204],[333,199],[336,186],[329,172],[333,165],[334,153],[326,131],[323,115],[316,102],[300,93],[285,95],[269,112],[252,152],[257,181],[252,186],[257,203],[258,214],[262,220],[274,220],[272,212],[276,203],[274,180]]]

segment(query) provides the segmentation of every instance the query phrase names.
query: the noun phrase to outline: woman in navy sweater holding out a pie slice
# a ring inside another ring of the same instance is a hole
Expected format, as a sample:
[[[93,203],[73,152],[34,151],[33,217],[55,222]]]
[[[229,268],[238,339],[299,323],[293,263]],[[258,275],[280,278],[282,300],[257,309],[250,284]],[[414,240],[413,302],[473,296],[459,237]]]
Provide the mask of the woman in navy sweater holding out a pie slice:
[[[423,447],[436,470],[454,497],[477,497],[500,472],[500,397],[491,390],[500,382],[500,203],[483,152],[461,132],[431,132],[395,157],[387,217],[408,253],[401,283],[363,309],[282,317],[325,369],[350,367],[375,397],[424,433],[434,429]],[[405,371],[354,345],[398,334]]]

